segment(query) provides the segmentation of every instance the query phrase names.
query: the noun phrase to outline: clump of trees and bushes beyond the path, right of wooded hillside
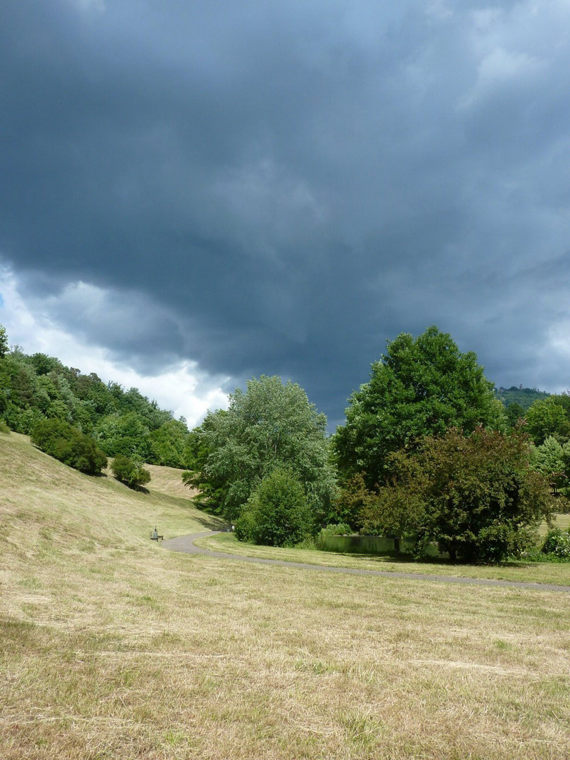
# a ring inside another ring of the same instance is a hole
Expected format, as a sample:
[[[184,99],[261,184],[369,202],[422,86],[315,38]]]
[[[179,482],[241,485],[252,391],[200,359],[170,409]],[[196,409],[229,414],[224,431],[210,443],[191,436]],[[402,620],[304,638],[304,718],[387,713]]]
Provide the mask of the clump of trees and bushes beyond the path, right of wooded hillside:
[[[252,379],[192,431],[183,478],[240,540],[293,545],[340,526],[412,538],[416,556],[436,543],[452,560],[499,561],[532,552],[556,506],[568,402],[505,408],[477,356],[432,327],[388,341],[332,436],[299,385]]]

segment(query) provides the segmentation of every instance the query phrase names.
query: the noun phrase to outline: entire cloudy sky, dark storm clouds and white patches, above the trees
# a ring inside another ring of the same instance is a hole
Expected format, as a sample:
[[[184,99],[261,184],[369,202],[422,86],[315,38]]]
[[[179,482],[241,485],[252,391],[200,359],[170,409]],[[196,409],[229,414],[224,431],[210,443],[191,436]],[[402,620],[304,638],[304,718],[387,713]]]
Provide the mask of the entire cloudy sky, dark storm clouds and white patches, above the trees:
[[[3,0],[0,323],[191,424],[433,324],[563,390],[569,93],[568,0]]]

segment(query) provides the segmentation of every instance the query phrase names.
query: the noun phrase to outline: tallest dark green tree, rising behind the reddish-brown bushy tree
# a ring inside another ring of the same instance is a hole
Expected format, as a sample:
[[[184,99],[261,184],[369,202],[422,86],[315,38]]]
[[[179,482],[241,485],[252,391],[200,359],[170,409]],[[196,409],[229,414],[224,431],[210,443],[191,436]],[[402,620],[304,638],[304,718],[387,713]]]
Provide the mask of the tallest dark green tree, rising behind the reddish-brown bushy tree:
[[[451,335],[436,327],[415,339],[402,333],[389,340],[385,355],[372,364],[370,381],[349,404],[347,423],[334,436],[337,459],[345,477],[365,473],[370,488],[389,473],[391,452],[413,450],[426,435],[506,424],[477,356],[461,353]]]

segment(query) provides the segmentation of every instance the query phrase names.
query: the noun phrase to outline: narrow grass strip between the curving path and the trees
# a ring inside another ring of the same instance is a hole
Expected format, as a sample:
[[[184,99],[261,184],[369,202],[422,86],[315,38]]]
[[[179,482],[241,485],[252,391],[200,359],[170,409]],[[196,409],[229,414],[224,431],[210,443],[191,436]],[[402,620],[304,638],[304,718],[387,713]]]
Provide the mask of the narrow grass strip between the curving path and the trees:
[[[562,515],[566,517],[566,515]],[[282,559],[309,565],[380,570],[382,572],[412,572],[418,575],[447,575],[455,578],[489,578],[498,581],[524,581],[570,586],[570,562],[504,562],[501,565],[453,565],[426,559],[394,559],[393,556],[323,552],[317,549],[277,549],[274,546],[255,546],[241,543],[233,534],[201,538],[196,546],[236,556],[261,559]]]

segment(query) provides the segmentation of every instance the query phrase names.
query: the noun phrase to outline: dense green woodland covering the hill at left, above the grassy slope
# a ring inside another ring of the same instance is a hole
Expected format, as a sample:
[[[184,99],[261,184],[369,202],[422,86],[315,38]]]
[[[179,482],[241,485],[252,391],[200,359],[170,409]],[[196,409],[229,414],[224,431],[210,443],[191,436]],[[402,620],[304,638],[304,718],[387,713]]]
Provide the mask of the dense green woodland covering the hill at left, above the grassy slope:
[[[43,420],[59,420],[90,435],[109,457],[124,454],[150,464],[186,465],[184,420],[173,419],[137,388],[104,383],[45,353],[27,356],[18,347],[9,351],[0,325],[0,422],[30,434]]]

